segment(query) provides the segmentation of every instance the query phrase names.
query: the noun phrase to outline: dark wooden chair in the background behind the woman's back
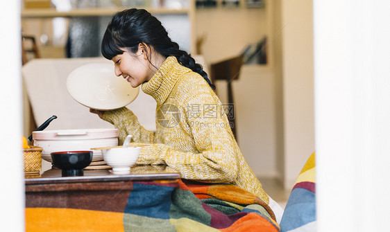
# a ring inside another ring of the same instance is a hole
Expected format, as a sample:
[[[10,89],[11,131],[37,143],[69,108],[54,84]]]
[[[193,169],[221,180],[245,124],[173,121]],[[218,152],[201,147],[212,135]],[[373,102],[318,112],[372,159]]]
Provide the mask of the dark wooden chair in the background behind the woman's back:
[[[214,83],[215,80],[226,80],[228,87],[228,105],[227,114],[232,128],[232,132],[237,139],[237,130],[235,124],[235,105],[233,100],[232,82],[239,78],[239,71],[241,70],[244,54],[232,57],[221,62],[211,64],[211,81]]]

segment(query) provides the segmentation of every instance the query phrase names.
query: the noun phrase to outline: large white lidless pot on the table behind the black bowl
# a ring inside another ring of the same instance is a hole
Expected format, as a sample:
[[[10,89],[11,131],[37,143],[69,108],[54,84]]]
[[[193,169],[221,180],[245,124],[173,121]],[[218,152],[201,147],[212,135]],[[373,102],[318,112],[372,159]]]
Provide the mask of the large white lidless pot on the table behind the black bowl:
[[[42,159],[51,162],[51,152],[91,150],[118,145],[117,129],[46,130],[33,132],[35,146],[43,148]],[[103,160],[101,150],[94,152],[92,161]]]

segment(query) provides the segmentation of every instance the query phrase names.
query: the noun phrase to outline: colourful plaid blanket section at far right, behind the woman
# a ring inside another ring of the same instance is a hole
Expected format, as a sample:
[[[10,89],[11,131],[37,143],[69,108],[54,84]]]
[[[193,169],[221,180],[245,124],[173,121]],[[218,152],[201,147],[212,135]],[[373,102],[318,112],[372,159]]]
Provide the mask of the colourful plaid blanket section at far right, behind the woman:
[[[280,221],[283,232],[316,231],[316,159],[313,153],[300,171]]]

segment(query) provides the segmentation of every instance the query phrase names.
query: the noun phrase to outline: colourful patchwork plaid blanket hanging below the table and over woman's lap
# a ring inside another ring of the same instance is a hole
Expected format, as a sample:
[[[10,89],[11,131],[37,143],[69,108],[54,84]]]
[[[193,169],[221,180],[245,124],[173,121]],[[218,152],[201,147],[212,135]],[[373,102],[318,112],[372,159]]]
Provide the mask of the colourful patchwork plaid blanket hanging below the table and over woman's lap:
[[[280,231],[271,208],[234,185],[132,184],[130,195],[120,199],[126,204],[115,211],[83,204],[26,208],[26,231]]]

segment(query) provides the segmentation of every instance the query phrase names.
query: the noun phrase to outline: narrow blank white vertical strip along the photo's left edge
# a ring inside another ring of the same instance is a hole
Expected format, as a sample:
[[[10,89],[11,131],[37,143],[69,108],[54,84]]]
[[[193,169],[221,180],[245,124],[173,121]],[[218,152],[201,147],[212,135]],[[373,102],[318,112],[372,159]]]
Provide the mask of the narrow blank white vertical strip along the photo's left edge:
[[[0,231],[24,231],[20,1],[0,2]]]

